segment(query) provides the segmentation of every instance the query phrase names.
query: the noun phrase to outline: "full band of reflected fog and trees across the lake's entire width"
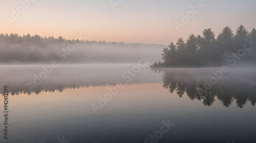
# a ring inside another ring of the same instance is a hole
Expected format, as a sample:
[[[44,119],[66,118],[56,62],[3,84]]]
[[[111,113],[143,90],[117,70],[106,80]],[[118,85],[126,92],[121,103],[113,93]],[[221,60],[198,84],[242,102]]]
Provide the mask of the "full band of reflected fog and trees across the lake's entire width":
[[[133,64],[98,64],[98,65],[61,65],[54,69],[36,88],[29,90],[26,83],[33,83],[34,74],[38,74],[41,66],[1,66],[2,84],[9,86],[11,95],[22,93],[30,95],[41,92],[62,92],[65,89],[87,88],[95,86],[115,85],[118,81],[127,83],[122,73]],[[179,97],[187,95],[191,100],[200,100],[205,106],[212,105],[216,99],[223,106],[229,107],[235,102],[242,108],[247,102],[256,102],[256,69],[233,68],[212,86],[205,90],[204,80],[209,80],[212,71],[219,68],[184,68],[184,69],[152,69],[142,68],[127,84],[161,82],[163,88],[170,93],[176,92]],[[155,74],[154,74],[155,73]],[[1,87],[4,85],[1,84]],[[3,88],[0,88],[0,94]]]

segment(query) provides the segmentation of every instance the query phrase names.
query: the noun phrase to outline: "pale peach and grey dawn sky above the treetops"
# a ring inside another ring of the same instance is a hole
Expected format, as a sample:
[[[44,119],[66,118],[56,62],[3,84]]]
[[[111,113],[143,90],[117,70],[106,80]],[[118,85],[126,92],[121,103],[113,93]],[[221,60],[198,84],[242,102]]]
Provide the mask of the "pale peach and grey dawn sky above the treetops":
[[[201,34],[204,28],[212,28],[218,35],[224,26],[233,31],[240,24],[248,31],[256,27],[254,0],[205,0],[203,7],[200,1],[0,0],[0,33],[66,39],[77,39],[75,34],[81,34],[86,40],[167,45],[179,37]],[[182,23],[182,14],[191,14],[191,6],[196,5],[200,10]],[[183,24],[179,31],[175,22]]]

